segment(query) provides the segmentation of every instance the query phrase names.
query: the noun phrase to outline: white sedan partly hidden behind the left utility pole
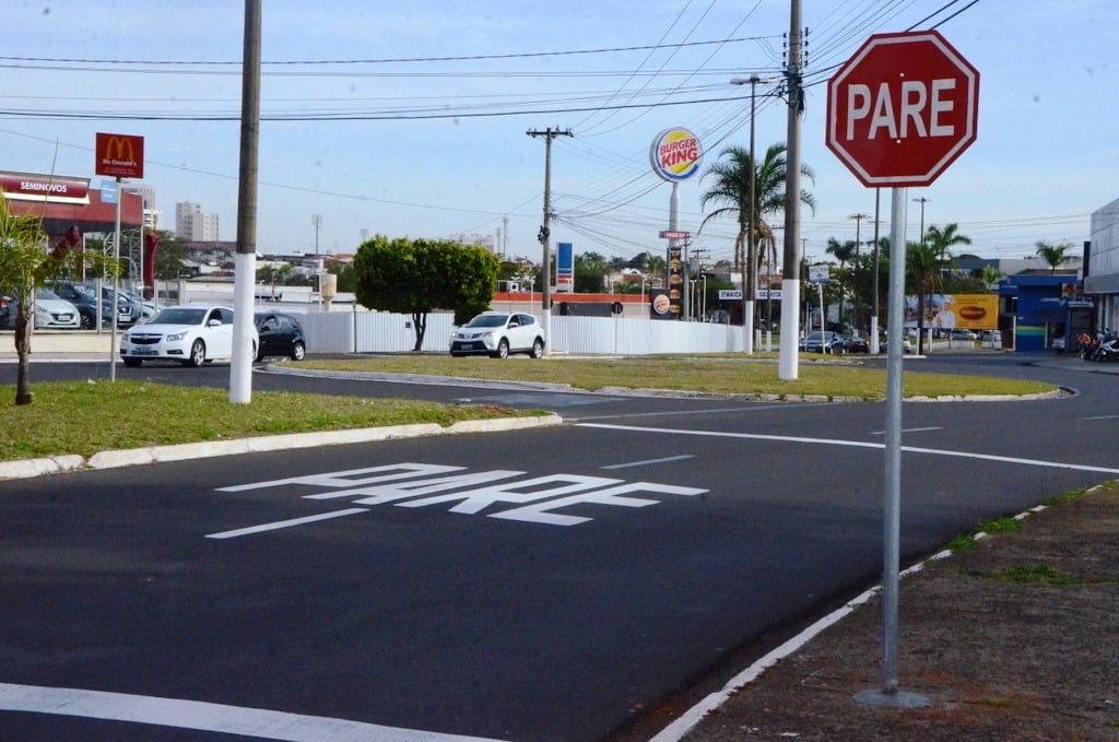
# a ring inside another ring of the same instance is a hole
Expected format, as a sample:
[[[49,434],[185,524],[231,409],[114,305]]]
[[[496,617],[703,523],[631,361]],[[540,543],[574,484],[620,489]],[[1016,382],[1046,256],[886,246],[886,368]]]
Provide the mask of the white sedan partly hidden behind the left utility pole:
[[[252,328],[253,357],[260,339]],[[233,310],[227,307],[185,304],[169,307],[121,336],[121,358],[135,368],[144,360],[178,360],[201,366],[233,358]]]

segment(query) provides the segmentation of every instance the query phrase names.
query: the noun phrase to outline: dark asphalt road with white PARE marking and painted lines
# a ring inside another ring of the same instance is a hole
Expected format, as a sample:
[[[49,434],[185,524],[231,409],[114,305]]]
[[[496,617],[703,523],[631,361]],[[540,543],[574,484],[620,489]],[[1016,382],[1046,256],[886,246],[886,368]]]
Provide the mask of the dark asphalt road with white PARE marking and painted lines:
[[[1075,394],[904,405],[903,562],[1119,475],[1119,378],[928,367]],[[0,482],[0,739],[609,739],[881,572],[882,404],[264,373],[254,388],[568,424]]]

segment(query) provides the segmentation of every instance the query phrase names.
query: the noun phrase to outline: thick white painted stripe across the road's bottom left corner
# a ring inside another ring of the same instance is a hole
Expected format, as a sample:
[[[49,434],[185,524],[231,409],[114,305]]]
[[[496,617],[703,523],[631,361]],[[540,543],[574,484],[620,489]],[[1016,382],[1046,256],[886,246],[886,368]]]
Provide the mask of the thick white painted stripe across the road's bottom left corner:
[[[0,683],[0,711],[104,718],[286,742],[496,742],[479,736],[382,726],[181,698]]]

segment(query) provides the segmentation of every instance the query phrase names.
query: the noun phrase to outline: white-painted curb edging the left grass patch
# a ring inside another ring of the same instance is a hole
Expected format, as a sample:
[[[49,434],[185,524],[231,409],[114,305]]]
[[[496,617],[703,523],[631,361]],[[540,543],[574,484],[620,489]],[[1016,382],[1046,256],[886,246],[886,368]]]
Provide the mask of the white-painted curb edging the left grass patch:
[[[242,453],[264,453],[314,448],[320,445],[345,445],[348,443],[373,443],[424,435],[455,435],[461,433],[495,433],[511,430],[530,430],[562,425],[560,415],[536,417],[498,417],[495,420],[464,420],[446,428],[438,423],[396,425],[388,428],[360,428],[355,430],[321,431],[314,433],[288,433],[284,435],[262,435],[228,441],[206,441],[180,443],[177,445],[152,445],[141,449],[101,451],[88,459],[70,454],[0,462],[0,480],[30,479],[44,475],[56,475],[78,469],[115,469],[145,463],[208,459],[219,455]]]

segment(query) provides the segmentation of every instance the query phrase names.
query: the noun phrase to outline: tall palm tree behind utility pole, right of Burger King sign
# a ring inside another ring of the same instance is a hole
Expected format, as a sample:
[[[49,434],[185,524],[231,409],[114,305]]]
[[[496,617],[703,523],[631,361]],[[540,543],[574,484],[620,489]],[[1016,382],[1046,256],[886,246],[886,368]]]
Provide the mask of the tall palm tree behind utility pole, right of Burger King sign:
[[[761,162],[751,162],[750,151],[741,147],[728,147],[720,153],[720,161],[711,166],[703,178],[715,177],[715,184],[709,190],[700,196],[700,204],[707,206],[708,203],[721,204],[720,208],[704,217],[699,224],[702,232],[711,219],[720,216],[734,215],[739,222],[739,234],[734,241],[734,270],[741,271],[746,266],[746,284],[749,291],[753,290],[754,271],[764,263],[767,251],[774,262],[777,262],[777,239],[773,236],[773,227],[765,220],[768,216],[784,212],[784,184],[787,173],[786,145],[783,142],[771,144],[765,150],[765,157]],[[723,158],[726,158],[724,161]],[[750,205],[750,171],[754,172],[754,204]],[[812,180],[816,176],[807,165],[800,166],[800,173]],[[800,201],[816,212],[816,198],[807,190],[801,189]],[[751,214],[753,215],[754,244],[760,246],[758,255],[745,255],[747,229],[750,228]],[[747,294],[753,295],[753,294]]]

